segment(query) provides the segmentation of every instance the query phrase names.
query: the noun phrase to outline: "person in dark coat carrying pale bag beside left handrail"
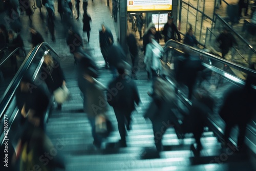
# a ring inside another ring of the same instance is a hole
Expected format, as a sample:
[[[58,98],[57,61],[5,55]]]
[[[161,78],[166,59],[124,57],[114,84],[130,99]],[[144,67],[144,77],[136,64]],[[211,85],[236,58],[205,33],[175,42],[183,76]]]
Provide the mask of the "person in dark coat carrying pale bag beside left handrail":
[[[53,58],[50,54],[44,55],[44,58],[42,72],[47,73],[44,80],[47,84],[49,92],[53,94],[55,90],[66,85],[65,76],[57,59]],[[60,110],[61,104],[57,103],[57,108]]]

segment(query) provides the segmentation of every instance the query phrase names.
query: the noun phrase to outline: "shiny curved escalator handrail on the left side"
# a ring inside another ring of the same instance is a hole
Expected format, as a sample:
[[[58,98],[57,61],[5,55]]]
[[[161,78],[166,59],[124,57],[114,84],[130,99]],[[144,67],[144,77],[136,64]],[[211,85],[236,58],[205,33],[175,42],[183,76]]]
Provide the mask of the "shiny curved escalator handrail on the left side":
[[[22,64],[22,66],[20,66],[20,69],[18,70],[17,74],[12,79],[11,83],[9,84],[7,91],[4,94],[3,98],[0,99],[1,100],[0,101],[0,120],[2,120],[2,118],[4,116],[4,112],[9,104],[9,102],[14,97],[14,93],[17,89],[19,81],[22,79],[23,73],[28,69],[28,67],[30,66],[35,55],[37,54],[39,49],[43,46],[46,46],[48,49],[53,51],[59,57],[59,54],[47,42],[42,42],[40,45],[37,45],[29,52],[29,54],[27,55],[26,59],[24,60],[24,62]]]

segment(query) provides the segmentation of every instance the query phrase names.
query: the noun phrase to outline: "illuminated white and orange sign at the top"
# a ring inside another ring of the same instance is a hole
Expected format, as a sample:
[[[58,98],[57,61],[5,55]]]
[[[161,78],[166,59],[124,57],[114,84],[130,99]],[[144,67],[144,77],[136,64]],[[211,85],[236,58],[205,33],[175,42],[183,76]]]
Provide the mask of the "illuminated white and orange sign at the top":
[[[172,0],[127,0],[127,11],[172,10]]]

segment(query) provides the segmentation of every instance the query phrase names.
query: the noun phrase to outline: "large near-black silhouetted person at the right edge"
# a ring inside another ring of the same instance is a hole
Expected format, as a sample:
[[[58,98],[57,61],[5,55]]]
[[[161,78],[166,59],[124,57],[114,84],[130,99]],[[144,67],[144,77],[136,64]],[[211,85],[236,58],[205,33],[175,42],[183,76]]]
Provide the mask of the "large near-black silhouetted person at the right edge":
[[[255,69],[255,63],[253,64]],[[237,150],[241,151],[244,146],[246,125],[255,115],[256,91],[252,86],[256,85],[256,78],[248,75],[243,88],[231,88],[227,91],[223,105],[219,111],[220,116],[225,121],[224,144],[229,141],[232,127],[238,125],[239,134],[237,139]]]

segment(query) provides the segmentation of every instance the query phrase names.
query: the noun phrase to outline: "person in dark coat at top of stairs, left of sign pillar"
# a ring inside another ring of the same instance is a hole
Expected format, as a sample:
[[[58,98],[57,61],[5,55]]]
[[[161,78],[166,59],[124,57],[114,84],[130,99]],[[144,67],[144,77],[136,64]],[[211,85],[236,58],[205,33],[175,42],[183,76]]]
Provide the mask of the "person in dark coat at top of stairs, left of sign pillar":
[[[101,25],[101,30],[99,31],[99,46],[102,53],[102,56],[105,60],[105,68],[109,68],[108,63],[108,54],[109,54],[109,47],[113,45],[114,38],[111,31],[105,27],[104,24]]]

